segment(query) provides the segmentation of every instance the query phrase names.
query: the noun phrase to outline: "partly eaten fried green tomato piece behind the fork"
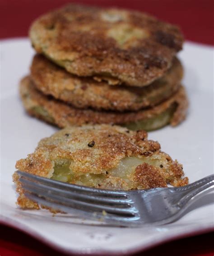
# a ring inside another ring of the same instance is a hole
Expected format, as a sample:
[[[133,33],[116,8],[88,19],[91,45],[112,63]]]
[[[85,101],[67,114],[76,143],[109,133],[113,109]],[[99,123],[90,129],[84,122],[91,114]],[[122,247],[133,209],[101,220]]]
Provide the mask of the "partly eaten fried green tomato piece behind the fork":
[[[182,165],[147,139],[144,130],[111,125],[66,127],[42,139],[35,152],[17,161],[16,168],[42,177],[113,190],[183,186]],[[14,173],[22,208],[39,208],[28,200]]]

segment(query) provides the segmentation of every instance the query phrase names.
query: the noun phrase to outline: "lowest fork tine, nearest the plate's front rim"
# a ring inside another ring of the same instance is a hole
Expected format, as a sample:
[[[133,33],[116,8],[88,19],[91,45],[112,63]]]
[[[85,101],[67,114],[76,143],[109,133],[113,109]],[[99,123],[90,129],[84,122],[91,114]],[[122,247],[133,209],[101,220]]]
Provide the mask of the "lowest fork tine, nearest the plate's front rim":
[[[106,223],[110,224],[116,224],[116,225],[121,225],[121,226],[129,226],[129,227],[136,227],[139,226],[138,220],[140,217],[138,215],[133,216],[133,217],[124,217],[124,216],[118,216],[114,214],[107,214],[103,215],[102,213],[98,212],[87,212],[85,209],[74,209],[71,208],[70,206],[65,206],[61,205],[59,202],[49,202],[46,199],[43,199],[39,197],[38,195],[32,195],[29,193],[25,193],[25,195],[37,202],[39,205],[47,206],[52,209],[60,210],[65,213],[70,213],[70,214],[78,214],[80,218],[86,218],[86,219],[93,219],[97,221],[105,221]]]

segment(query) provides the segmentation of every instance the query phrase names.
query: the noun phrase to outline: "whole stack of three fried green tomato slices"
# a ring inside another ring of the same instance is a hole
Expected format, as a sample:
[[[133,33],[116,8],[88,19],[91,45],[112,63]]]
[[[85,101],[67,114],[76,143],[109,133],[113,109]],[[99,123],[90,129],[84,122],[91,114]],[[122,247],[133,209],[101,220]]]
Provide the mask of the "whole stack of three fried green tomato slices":
[[[185,119],[176,26],[137,11],[67,5],[34,21],[30,39],[37,54],[20,83],[29,114],[60,128],[156,130]]]

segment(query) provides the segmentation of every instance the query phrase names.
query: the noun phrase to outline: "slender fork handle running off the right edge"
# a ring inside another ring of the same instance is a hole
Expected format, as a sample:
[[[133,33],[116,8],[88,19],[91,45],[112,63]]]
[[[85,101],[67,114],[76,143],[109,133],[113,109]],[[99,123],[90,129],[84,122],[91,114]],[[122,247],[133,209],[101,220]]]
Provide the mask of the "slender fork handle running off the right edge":
[[[179,191],[183,190],[184,192],[187,192],[185,193],[186,195],[184,195],[177,203],[177,206],[182,208],[188,201],[199,198],[201,195],[204,195],[205,193],[214,189],[214,175],[207,176],[197,182],[179,189]]]

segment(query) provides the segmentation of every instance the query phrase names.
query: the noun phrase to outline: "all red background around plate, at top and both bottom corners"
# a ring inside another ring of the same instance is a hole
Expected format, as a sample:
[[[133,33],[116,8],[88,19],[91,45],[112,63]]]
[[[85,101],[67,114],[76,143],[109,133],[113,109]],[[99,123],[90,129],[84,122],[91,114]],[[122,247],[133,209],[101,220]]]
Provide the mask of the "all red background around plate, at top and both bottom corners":
[[[0,38],[27,36],[33,19],[67,2],[145,11],[180,25],[187,40],[214,45],[213,0],[0,0]],[[0,225],[0,230],[0,256],[59,255],[42,242],[13,228]],[[143,255],[213,256],[212,236],[213,233],[208,233],[168,242],[145,251]]]

